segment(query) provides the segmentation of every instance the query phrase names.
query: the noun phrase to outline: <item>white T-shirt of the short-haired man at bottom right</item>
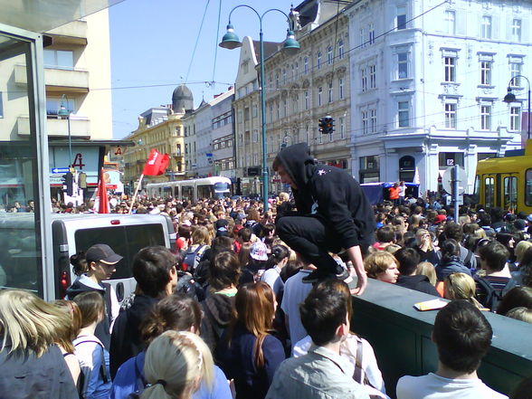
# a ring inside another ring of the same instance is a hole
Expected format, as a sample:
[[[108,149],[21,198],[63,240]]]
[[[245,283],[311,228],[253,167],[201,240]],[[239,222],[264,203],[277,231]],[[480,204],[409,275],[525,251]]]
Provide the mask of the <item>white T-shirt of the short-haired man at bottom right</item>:
[[[397,382],[397,399],[508,399],[485,385],[480,378],[450,379],[428,375],[404,375]]]

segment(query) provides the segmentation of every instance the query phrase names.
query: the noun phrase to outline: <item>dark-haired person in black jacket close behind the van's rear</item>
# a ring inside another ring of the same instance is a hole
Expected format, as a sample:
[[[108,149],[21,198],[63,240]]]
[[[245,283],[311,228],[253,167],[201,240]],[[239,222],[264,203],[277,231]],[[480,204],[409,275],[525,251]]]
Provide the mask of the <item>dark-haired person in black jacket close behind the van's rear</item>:
[[[119,366],[144,349],[140,324],[154,305],[172,294],[177,284],[176,257],[166,247],[140,250],[133,259],[133,277],[137,290],[129,309],[120,311],[110,341],[110,373],[114,378]]]

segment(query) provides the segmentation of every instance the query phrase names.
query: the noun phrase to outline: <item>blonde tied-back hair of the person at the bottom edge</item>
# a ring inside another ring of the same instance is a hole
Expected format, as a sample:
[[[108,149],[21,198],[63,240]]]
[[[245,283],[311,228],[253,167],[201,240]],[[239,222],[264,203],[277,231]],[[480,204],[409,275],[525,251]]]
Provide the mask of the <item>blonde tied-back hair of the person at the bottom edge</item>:
[[[212,389],[213,374],[213,356],[202,338],[187,331],[165,331],[147,347],[144,375],[151,386],[140,398],[187,398],[202,381]]]

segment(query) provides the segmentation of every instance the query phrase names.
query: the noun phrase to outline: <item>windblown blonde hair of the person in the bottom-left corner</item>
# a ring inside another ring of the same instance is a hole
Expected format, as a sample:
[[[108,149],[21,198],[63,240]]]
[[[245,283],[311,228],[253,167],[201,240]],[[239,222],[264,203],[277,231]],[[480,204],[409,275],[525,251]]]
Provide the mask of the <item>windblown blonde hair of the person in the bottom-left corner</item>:
[[[57,340],[58,331],[70,324],[69,315],[35,294],[24,290],[0,291],[0,335],[2,347],[43,355]]]

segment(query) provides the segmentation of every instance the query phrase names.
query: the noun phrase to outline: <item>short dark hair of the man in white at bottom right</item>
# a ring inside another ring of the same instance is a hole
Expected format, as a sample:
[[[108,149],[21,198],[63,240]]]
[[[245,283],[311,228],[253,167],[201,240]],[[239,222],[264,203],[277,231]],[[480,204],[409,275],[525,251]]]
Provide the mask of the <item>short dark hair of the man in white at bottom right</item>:
[[[482,312],[464,299],[453,300],[436,315],[432,339],[442,365],[472,373],[488,352],[493,330]]]

